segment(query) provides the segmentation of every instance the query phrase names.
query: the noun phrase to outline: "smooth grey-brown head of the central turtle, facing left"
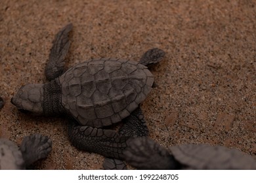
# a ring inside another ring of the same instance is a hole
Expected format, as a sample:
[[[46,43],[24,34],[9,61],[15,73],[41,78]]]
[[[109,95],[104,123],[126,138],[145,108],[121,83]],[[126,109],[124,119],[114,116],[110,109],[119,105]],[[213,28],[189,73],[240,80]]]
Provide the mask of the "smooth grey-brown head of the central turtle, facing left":
[[[43,114],[43,84],[27,84],[22,86],[11,99],[21,112]]]

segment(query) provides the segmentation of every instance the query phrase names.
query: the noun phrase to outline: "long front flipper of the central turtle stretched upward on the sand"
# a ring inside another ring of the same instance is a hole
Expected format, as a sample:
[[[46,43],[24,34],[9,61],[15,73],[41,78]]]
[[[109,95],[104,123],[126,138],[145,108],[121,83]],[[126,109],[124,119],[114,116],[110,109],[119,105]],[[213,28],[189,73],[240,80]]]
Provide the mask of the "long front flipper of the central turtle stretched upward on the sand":
[[[47,80],[53,80],[64,72],[64,59],[70,48],[68,33],[72,30],[73,25],[68,24],[63,27],[55,36],[53,47],[49,55],[49,62],[45,67],[45,76]]]

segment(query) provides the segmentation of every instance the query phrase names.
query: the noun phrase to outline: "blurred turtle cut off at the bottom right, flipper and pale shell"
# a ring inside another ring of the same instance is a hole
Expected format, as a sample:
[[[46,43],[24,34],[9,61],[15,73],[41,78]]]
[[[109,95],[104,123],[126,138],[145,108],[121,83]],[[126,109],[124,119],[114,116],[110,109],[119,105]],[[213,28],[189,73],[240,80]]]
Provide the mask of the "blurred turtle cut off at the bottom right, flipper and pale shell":
[[[146,137],[127,141],[123,157],[138,169],[256,169],[255,159],[236,149],[180,144],[167,150]]]

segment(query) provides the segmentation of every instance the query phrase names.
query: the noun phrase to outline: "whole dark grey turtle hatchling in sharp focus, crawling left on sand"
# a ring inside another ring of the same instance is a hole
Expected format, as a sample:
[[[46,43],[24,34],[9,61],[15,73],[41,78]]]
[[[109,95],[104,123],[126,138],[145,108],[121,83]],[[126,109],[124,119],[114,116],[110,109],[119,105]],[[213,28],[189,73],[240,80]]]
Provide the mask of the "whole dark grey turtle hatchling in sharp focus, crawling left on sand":
[[[154,83],[154,76],[146,65],[161,61],[165,52],[150,49],[140,61],[89,59],[64,71],[72,26],[62,28],[53,41],[45,68],[49,82],[22,86],[11,102],[21,111],[39,115],[67,114],[68,134],[74,146],[118,158],[116,143],[125,142],[127,137],[102,128],[129,117],[146,99]],[[137,122],[140,119],[137,118]]]

